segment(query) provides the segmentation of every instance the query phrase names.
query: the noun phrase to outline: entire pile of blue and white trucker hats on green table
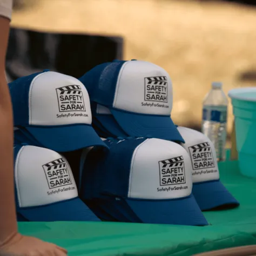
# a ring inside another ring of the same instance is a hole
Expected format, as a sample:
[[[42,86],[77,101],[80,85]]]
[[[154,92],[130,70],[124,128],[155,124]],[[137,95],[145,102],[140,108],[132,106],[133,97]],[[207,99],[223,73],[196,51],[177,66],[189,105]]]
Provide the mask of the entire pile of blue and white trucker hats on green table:
[[[9,88],[19,221],[204,226],[202,211],[239,205],[211,141],[172,122],[163,68],[116,60],[79,79],[44,70]]]

